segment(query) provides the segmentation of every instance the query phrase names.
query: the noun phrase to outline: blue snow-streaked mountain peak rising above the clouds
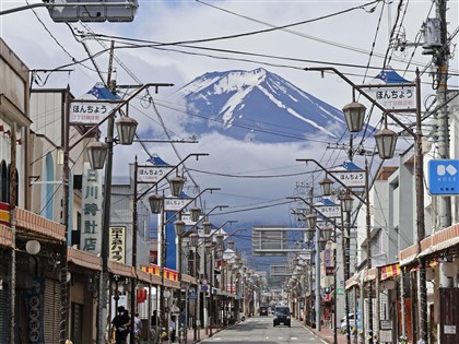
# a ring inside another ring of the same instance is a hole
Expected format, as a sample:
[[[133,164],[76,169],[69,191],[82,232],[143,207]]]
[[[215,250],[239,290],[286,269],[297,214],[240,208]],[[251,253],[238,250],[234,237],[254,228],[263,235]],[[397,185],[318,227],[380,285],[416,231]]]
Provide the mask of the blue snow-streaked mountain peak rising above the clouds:
[[[177,91],[193,119],[186,130],[197,137],[215,130],[255,142],[336,141],[346,133],[344,115],[281,76],[252,71],[209,72]]]

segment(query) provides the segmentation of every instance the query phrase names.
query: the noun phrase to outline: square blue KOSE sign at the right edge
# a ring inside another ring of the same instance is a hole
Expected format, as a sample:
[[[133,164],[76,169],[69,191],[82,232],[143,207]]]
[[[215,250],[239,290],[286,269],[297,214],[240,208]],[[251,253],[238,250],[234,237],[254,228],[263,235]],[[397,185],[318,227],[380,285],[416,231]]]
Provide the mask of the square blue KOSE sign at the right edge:
[[[433,195],[459,194],[459,159],[428,162],[428,193]]]

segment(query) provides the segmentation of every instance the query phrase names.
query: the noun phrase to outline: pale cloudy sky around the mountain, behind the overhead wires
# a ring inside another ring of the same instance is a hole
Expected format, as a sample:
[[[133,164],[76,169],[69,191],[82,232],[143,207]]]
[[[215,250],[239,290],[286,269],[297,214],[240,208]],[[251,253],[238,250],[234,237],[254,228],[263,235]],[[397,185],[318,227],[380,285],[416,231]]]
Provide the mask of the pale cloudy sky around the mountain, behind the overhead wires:
[[[284,25],[299,21],[313,20],[337,11],[362,4],[362,1],[211,1],[210,3],[224,9],[235,11],[243,15],[263,21],[272,25]],[[23,5],[25,2],[2,2],[2,9]],[[317,66],[319,61],[348,63],[350,66],[366,66],[367,63],[382,68],[384,60],[376,55],[385,55],[388,48],[388,24],[389,16],[385,12],[380,20],[379,3],[376,11],[368,13],[366,11],[355,10],[346,14],[332,16],[290,27],[289,31],[276,31],[259,35],[219,40],[213,43],[203,43],[200,47],[226,49],[234,51],[247,51],[254,54],[271,55],[278,57],[289,57],[303,59],[305,61],[287,61],[255,56],[229,55],[222,51],[202,51],[198,49],[186,49],[193,54],[209,54],[222,57],[214,59],[209,57],[186,55],[175,51],[161,51],[152,48],[122,49],[117,50],[116,55],[121,59],[125,66],[129,68],[137,78],[143,82],[167,82],[174,83],[170,88],[161,88],[158,95],[154,95],[160,100],[170,102],[168,95],[178,90],[178,87],[190,82],[196,76],[210,71],[224,70],[252,70],[260,67],[260,62],[283,64],[284,67],[262,66],[292,82],[299,88],[313,94],[314,96],[341,108],[351,100],[351,88],[336,75],[326,75],[322,80],[320,73],[305,72],[299,70],[305,67]],[[416,1],[410,3],[410,9],[404,16],[403,29],[409,41],[414,41],[423,21],[429,15],[428,9],[432,1]],[[458,2],[449,1],[450,10],[447,17],[449,32],[452,32],[458,23]],[[386,5],[386,9],[389,7]],[[391,24],[396,19],[396,5],[391,5]],[[404,10],[404,9],[403,9]],[[56,39],[72,55],[75,60],[86,58],[81,44],[71,35],[66,24],[54,23],[45,9],[36,9],[35,12],[43,20],[46,27],[56,37]],[[356,52],[352,48],[370,51],[376,36],[376,29],[379,25],[379,32],[374,45],[374,57],[370,59],[367,54]],[[80,24],[71,26],[84,29]],[[199,39],[207,37],[219,37],[233,34],[243,34],[257,29],[269,28],[261,23],[256,23],[247,19],[238,17],[223,11],[212,9],[193,1],[141,1],[138,16],[132,23],[104,23],[89,24],[95,32],[106,35],[125,36],[151,41],[170,43],[189,39]],[[295,34],[293,33],[295,32]],[[307,35],[308,37],[305,37]],[[0,16],[0,36],[9,46],[20,56],[24,63],[31,69],[55,69],[59,66],[71,63],[71,58],[51,39],[49,33],[37,21],[31,10]],[[310,39],[310,36],[320,38],[322,41]],[[454,40],[456,44],[458,37]],[[87,40],[91,51],[99,51],[102,47],[92,40]],[[328,44],[327,44],[328,43]],[[337,44],[332,44],[337,43]],[[108,40],[105,40],[109,45]],[[140,43],[139,43],[140,44]],[[116,44],[120,46],[119,43]],[[167,49],[185,50],[180,47],[166,46]],[[416,49],[413,57],[414,61],[426,62],[429,56],[423,56],[421,48]],[[392,55],[391,67],[404,69],[411,60],[413,48],[407,48],[404,52],[397,51]],[[223,59],[225,58],[225,59]],[[240,58],[247,61],[235,61],[227,58]],[[310,60],[311,62],[307,62]],[[106,78],[107,54],[95,59]],[[317,62],[314,62],[317,61]],[[92,71],[94,66],[90,61],[84,62],[89,69],[73,66],[72,72],[54,73],[45,86],[66,87],[68,83],[74,95],[80,96],[90,90],[98,81],[97,74]],[[117,68],[117,80],[119,84],[132,84],[134,81],[115,63]],[[457,55],[455,60],[450,61],[454,69],[458,66]],[[289,68],[291,67],[291,68]],[[364,69],[354,67],[338,67],[340,70],[357,74],[350,76],[354,82],[367,82],[376,70],[370,70],[367,78],[362,76]],[[408,79],[413,79],[413,66],[410,66]],[[421,68],[422,69],[422,68]],[[40,74],[42,79],[46,78]],[[425,87],[423,94],[434,93],[429,88],[431,79],[424,74],[423,82]],[[450,80],[456,82],[457,78]],[[424,98],[424,96],[423,96]],[[180,107],[170,104],[174,107]],[[183,123],[191,120],[190,116],[180,111],[166,110],[158,107],[167,128],[178,135],[177,138],[188,138],[188,133],[183,132]],[[136,118],[140,122],[140,129],[143,132],[150,131],[152,135],[160,134],[162,131],[155,120],[157,120],[151,108],[142,109],[143,114],[138,112]],[[202,170],[216,171],[229,175],[246,175],[260,171],[260,174],[295,174],[302,170],[302,164],[296,163],[295,158],[316,156],[318,159],[325,153],[322,144],[315,144],[314,147],[305,146],[301,143],[295,144],[258,144],[251,142],[236,142],[215,133],[199,138],[199,144],[177,144],[177,150],[181,156],[190,152],[209,153],[209,157],[203,157],[198,163],[192,163],[192,167]],[[169,145],[164,143],[149,144],[151,152],[158,153],[169,163],[177,163]],[[116,167],[115,174],[127,173],[127,162],[133,162],[133,152],[139,155],[140,161],[146,158],[146,154],[139,146],[116,147]],[[341,153],[341,159],[345,152]],[[339,161],[338,158],[337,161]],[[187,164],[188,165],[188,164]],[[222,202],[232,202],[232,206],[244,204],[262,203],[269,200],[281,199],[293,192],[295,181],[310,180],[307,177],[296,176],[291,178],[229,178],[217,177],[196,173],[196,179],[201,188],[221,187]],[[213,203],[214,197],[209,197],[209,203]],[[262,214],[262,215],[260,215]],[[289,218],[285,211],[250,212],[249,215],[243,213],[234,214],[235,217],[245,217],[259,220],[260,222],[282,222]],[[222,221],[223,222],[223,221]]]

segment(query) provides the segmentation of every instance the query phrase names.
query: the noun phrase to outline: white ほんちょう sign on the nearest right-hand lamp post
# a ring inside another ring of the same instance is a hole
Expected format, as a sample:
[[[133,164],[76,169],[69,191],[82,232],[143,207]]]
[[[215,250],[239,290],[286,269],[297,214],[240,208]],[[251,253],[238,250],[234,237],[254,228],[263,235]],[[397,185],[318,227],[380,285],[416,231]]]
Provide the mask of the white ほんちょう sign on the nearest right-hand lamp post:
[[[409,110],[416,109],[416,91],[410,86],[372,86],[362,87],[366,94],[375,99],[379,105],[388,110]]]

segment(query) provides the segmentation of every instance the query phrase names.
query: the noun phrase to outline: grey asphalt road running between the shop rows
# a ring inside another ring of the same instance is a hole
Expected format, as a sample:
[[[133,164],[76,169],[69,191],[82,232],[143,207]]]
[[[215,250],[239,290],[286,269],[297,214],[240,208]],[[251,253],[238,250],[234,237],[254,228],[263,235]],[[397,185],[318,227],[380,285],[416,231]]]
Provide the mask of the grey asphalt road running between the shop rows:
[[[201,343],[323,344],[325,342],[294,319],[291,328],[284,325],[274,328],[272,316],[268,316],[247,319]]]

